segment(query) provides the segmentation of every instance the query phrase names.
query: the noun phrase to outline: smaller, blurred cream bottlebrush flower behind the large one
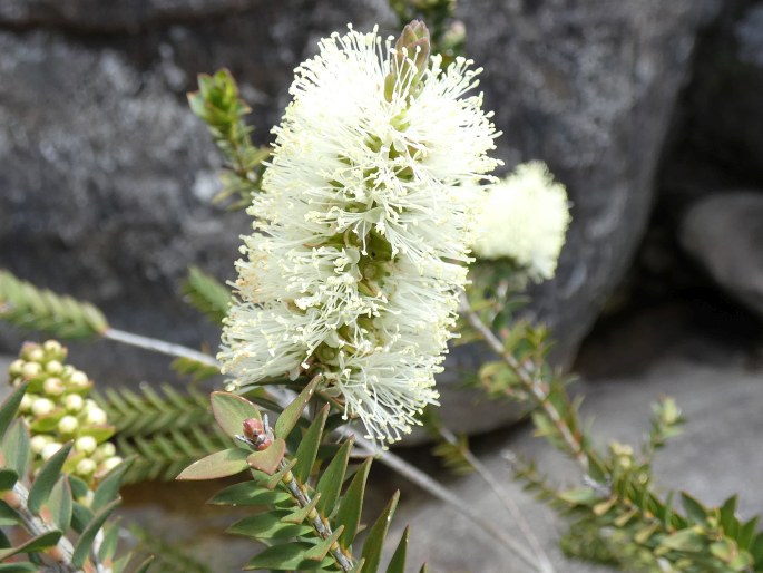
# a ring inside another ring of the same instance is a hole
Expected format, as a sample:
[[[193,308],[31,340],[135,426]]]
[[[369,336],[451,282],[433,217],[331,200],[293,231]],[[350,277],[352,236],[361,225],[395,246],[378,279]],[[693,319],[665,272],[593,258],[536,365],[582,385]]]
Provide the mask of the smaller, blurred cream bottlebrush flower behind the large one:
[[[475,254],[511,259],[535,281],[554,276],[570,222],[565,186],[542,162],[518,165],[490,186],[478,222]]]

